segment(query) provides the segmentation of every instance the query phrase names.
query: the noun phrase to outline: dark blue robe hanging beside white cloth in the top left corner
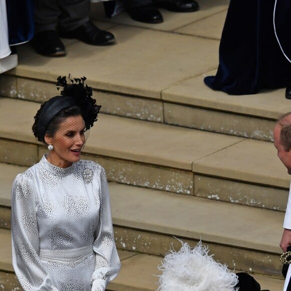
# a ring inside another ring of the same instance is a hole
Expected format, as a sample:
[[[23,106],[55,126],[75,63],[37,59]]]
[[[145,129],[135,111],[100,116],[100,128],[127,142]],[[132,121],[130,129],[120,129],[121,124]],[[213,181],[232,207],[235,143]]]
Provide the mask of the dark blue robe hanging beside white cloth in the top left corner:
[[[34,36],[33,0],[7,0],[9,45],[31,40]]]

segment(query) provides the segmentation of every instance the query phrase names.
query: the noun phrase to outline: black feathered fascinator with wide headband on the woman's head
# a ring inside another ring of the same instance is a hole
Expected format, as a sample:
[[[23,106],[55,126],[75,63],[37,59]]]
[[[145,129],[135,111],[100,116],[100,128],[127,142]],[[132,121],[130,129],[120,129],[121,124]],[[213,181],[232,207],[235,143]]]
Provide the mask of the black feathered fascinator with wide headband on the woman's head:
[[[57,89],[62,87],[61,95],[55,96],[41,105],[33,125],[34,135],[39,141],[44,141],[46,129],[52,119],[62,110],[69,107],[79,107],[85,122],[86,130],[97,121],[97,115],[101,108],[96,105],[96,100],[92,98],[92,88],[85,84],[86,77],[71,78],[69,83],[66,76],[59,76],[57,79]]]

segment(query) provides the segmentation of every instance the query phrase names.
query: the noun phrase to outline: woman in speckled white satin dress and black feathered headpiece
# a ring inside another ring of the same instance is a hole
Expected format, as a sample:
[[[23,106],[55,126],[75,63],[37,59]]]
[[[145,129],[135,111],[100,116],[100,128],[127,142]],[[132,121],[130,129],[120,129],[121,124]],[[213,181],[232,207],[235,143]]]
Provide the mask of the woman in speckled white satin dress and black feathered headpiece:
[[[104,169],[80,160],[101,106],[75,79],[41,105],[33,132],[49,154],[12,191],[12,251],[25,290],[103,291],[120,269]]]

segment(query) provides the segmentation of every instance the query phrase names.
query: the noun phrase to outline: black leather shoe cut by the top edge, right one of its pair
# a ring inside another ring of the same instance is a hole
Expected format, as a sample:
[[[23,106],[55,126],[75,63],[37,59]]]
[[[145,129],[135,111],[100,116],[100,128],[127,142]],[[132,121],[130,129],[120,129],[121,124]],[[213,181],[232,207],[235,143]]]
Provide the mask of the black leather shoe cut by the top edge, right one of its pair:
[[[164,8],[174,12],[194,12],[199,10],[199,5],[195,0],[154,0],[159,8]]]

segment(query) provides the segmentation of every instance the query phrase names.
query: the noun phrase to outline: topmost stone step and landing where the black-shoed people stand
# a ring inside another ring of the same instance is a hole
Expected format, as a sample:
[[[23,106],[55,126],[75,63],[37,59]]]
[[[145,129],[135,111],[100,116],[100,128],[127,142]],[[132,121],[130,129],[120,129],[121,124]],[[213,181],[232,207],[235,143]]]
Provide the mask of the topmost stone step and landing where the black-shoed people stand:
[[[157,26],[125,13],[108,20],[102,4],[92,7],[98,26],[114,33],[118,44],[96,48],[65,40],[68,55],[58,59],[20,46],[19,66],[0,76],[1,94],[43,102],[58,94],[59,75],[86,75],[104,113],[271,140],[274,120],[289,107],[284,89],[229,96],[204,85],[218,66],[228,1],[202,5],[195,14],[163,12],[166,21]]]

